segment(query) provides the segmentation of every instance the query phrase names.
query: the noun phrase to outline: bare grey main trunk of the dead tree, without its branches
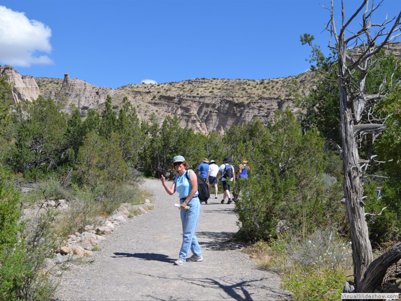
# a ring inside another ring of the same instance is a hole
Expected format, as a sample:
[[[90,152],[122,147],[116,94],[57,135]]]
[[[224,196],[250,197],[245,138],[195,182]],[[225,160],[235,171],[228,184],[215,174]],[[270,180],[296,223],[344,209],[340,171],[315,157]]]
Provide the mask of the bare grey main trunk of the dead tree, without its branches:
[[[359,281],[373,257],[365,219],[365,210],[361,202],[363,197],[363,173],[359,165],[359,152],[353,130],[353,125],[356,124],[357,120],[360,120],[364,103],[363,99],[359,99],[356,105],[357,111],[355,111],[352,107],[355,104],[349,99],[350,71],[346,65],[348,49],[344,31],[338,37],[337,51],[341,139],[343,147],[342,164],[344,170],[343,189],[351,233],[354,284],[358,287]],[[359,82],[364,83],[364,80],[360,80]]]

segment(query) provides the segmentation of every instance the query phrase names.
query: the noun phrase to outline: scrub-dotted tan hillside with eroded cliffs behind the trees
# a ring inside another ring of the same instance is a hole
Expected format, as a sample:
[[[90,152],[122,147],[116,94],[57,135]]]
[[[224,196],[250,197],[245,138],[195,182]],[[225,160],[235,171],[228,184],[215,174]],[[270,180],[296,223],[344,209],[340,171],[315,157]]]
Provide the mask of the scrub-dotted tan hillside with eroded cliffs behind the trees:
[[[53,99],[68,99],[79,107],[82,116],[90,109],[102,110],[106,96],[113,99],[118,112],[123,98],[136,107],[141,120],[155,113],[162,121],[167,114],[177,115],[181,126],[196,131],[224,131],[259,118],[267,124],[277,109],[287,106],[297,112],[291,89],[306,91],[316,81],[312,72],[277,79],[193,79],[164,84],[130,84],[118,89],[97,87],[79,79],[35,78],[40,93]]]

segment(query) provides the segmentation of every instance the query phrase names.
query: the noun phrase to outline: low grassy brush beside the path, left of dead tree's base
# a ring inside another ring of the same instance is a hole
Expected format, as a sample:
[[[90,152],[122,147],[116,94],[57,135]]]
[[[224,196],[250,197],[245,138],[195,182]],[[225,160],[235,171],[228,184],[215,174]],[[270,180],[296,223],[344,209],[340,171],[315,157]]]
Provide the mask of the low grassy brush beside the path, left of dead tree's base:
[[[351,245],[334,230],[317,230],[296,239],[284,235],[244,249],[255,264],[278,272],[295,300],[338,300],[352,274]]]

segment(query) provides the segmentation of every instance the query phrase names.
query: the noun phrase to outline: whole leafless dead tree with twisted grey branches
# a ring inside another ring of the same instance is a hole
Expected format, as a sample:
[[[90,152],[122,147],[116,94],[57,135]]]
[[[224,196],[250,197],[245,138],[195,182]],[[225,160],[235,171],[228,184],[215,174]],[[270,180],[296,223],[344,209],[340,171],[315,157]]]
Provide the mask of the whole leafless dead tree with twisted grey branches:
[[[385,128],[384,121],[377,120],[372,115],[374,104],[383,95],[380,93],[378,95],[365,94],[366,75],[369,72],[373,57],[385,45],[393,42],[401,35],[401,12],[391,20],[385,19],[380,24],[372,23],[372,16],[381,3],[375,7],[373,1],[369,5],[369,0],[364,0],[348,20],[345,19],[344,3],[341,3],[342,24],[338,32],[334,19],[333,0],[331,0],[331,18],[326,28],[330,31],[335,42],[335,46],[329,43],[329,47],[335,49],[338,59],[341,155],[344,170],[343,189],[350,225],[354,270],[353,283],[351,285],[348,283],[344,288],[344,291],[348,292],[377,291],[377,285],[381,285],[384,276],[382,269],[386,269],[394,260],[397,261],[401,258],[400,247],[394,248],[388,253],[391,255],[391,260],[387,260],[387,255],[383,254],[381,257],[384,258],[379,261],[381,264],[379,277],[377,277],[375,269],[369,267],[372,264],[373,255],[363,208],[363,184],[366,170],[374,156],[370,151],[367,158],[361,159],[358,150],[362,138],[368,136],[370,143],[373,144]],[[362,19],[359,23],[360,29],[353,32],[351,24],[359,16]],[[346,35],[350,36],[347,37]],[[351,48],[352,50],[350,50]],[[362,120],[365,120],[365,124]],[[368,120],[367,124],[366,120]]]

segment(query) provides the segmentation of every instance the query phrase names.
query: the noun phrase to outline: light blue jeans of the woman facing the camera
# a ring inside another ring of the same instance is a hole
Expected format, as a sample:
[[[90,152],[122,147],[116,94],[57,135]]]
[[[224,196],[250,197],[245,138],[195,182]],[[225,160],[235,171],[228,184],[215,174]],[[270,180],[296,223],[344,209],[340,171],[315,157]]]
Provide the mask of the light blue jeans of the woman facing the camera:
[[[181,201],[182,203],[182,201]],[[193,198],[189,201],[188,210],[180,210],[182,223],[182,245],[179,251],[179,258],[186,258],[189,249],[195,256],[202,255],[199,244],[196,239],[195,230],[199,221],[200,202],[199,199]]]

